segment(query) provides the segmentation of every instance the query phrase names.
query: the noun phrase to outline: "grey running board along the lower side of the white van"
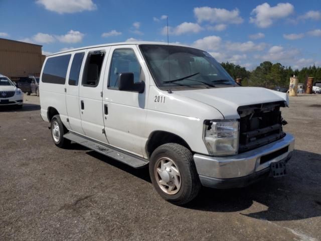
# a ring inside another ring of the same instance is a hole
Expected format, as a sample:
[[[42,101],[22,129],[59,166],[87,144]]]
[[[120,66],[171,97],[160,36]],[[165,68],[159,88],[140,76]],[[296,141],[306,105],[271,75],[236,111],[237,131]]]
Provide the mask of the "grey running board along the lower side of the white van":
[[[78,143],[84,147],[87,147],[93,151],[99,152],[102,155],[116,159],[117,161],[125,163],[133,168],[142,168],[148,164],[148,161],[141,157],[137,157],[132,154],[120,151],[116,148],[95,142],[91,139],[82,137],[71,132],[65,134],[64,138]]]

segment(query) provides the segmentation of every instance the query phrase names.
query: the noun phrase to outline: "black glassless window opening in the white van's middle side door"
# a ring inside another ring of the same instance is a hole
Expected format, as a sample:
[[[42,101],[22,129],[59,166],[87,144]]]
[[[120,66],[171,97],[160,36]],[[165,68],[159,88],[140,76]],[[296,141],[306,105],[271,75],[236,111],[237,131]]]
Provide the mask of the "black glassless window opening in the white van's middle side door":
[[[105,53],[95,51],[88,54],[82,84],[88,87],[96,87],[99,83],[100,71]]]

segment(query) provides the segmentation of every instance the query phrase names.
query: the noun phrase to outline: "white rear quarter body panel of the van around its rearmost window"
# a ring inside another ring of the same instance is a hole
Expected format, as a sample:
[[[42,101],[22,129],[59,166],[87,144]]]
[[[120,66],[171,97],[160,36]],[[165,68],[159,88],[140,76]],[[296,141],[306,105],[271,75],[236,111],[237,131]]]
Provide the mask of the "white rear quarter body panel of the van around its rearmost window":
[[[60,55],[64,55],[64,54],[60,54]],[[60,55],[55,55],[50,57],[56,57]],[[44,83],[42,81],[42,75],[43,75],[44,68],[46,66],[47,59],[48,58],[46,58],[41,70],[41,75],[40,75],[41,77],[40,77],[40,84],[39,84],[41,116],[45,121],[49,122],[48,115],[47,115],[48,108],[54,107],[59,112],[62,123],[67,127],[68,115],[67,115],[66,100],[65,100],[66,82],[65,84],[53,84],[53,83]],[[69,65],[70,65],[70,62],[69,62]]]

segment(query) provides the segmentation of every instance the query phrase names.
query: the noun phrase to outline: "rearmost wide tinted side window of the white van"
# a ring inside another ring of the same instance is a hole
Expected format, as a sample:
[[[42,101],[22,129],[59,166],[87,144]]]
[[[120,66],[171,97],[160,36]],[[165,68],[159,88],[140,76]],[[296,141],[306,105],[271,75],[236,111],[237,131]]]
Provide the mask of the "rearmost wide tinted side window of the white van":
[[[65,84],[71,54],[48,58],[42,74],[42,82]]]

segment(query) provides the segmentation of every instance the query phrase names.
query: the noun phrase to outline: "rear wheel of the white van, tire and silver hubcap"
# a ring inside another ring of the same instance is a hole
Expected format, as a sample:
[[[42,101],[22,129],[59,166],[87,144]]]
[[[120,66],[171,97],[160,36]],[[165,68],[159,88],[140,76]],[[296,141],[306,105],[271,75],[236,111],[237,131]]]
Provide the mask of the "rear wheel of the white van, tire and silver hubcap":
[[[58,128],[56,128],[58,126]],[[55,145],[59,148],[68,148],[70,140],[64,138],[64,134],[68,132],[64,124],[62,124],[59,114],[54,115],[50,124],[51,138]],[[59,133],[59,134],[58,134]],[[59,138],[58,138],[59,135]]]

